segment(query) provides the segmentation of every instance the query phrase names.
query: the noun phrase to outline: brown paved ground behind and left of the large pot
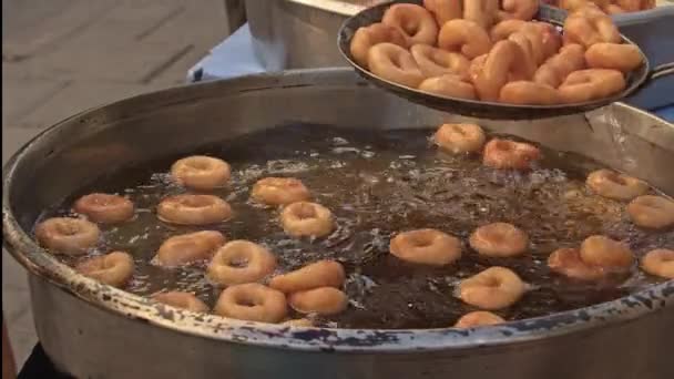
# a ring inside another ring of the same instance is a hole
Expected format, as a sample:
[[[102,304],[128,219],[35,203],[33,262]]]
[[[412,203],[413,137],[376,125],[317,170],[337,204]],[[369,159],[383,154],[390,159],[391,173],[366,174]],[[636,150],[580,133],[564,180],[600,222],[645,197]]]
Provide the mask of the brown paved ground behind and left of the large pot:
[[[226,31],[223,0],[2,0],[2,163],[61,119],[184,82]],[[21,365],[35,335],[6,252],[2,300]]]

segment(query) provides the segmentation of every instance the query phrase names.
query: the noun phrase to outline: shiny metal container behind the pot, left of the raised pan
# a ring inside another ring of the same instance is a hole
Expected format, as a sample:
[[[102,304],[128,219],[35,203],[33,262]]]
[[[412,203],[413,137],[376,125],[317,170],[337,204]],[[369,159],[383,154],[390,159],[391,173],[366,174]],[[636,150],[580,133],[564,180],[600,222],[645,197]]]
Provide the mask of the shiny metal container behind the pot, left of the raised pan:
[[[335,38],[347,17],[386,0],[246,0],[253,47],[268,71],[347,65]]]

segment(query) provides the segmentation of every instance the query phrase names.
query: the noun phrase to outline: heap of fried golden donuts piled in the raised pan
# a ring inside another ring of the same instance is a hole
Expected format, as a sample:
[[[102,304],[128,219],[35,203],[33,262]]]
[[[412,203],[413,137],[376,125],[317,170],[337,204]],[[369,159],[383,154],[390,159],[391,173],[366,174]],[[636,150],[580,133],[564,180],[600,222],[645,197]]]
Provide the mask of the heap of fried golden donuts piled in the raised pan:
[[[501,7],[501,8],[499,8]],[[626,86],[643,63],[594,3],[574,8],[563,33],[533,21],[538,0],[397,3],[350,41],[372,74],[432,95],[519,105],[584,103]]]

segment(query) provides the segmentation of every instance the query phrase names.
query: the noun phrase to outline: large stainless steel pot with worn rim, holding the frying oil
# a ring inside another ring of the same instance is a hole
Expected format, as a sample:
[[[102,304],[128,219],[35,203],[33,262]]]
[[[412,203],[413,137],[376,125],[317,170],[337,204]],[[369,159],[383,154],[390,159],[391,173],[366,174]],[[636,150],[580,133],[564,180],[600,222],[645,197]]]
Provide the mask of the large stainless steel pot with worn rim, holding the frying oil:
[[[423,127],[468,121],[347,69],[170,89],[68,119],[3,171],[6,247],[30,272],[40,340],[78,378],[674,378],[674,280],[615,301],[474,330],[288,328],[173,309],[98,284],[30,235],[40,212],[102,173],[289,121]],[[490,130],[581,153],[674,194],[674,126],[624,104]],[[317,126],[318,127],[318,126]]]

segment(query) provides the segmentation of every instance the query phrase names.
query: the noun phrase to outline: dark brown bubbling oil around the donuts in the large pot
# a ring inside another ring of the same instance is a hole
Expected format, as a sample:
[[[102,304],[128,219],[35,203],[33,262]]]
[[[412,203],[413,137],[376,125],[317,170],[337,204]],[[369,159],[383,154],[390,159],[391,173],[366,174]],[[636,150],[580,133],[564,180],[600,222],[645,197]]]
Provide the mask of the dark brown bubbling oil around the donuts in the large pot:
[[[674,246],[674,232],[639,229],[625,216],[624,203],[585,188],[586,173],[599,168],[592,161],[543,148],[544,160],[533,171],[499,171],[483,166],[479,155],[438,151],[429,142],[431,133],[294,124],[190,152],[217,156],[232,165],[231,185],[212,193],[229,202],[234,217],[217,225],[175,226],[155,215],[163,197],[185,192],[172,183],[167,171],[175,160],[190,154],[124,167],[94,181],[45,216],[69,214],[72,202],[91,192],[127,196],[136,205],[136,217],[103,226],[102,243],[92,254],[132,254],[136,269],[126,290],[142,296],[185,290],[214,305],[222,288],[206,278],[206,262],[180,268],[151,263],[162,242],[184,233],[214,229],[228,240],[262,244],[276,255],[277,273],[318,259],[336,259],[348,274],[345,290],[350,305],[340,315],[315,321],[339,328],[451,326],[476,310],[455,297],[456,285],[493,265],[512,268],[530,285],[518,304],[499,311],[506,319],[580,308],[656,281],[636,267],[629,278],[602,283],[573,281],[549,270],[550,253],[576,247],[593,234],[624,240],[637,256]],[[278,209],[248,198],[253,184],[266,176],[302,180],[314,199],[334,213],[335,232],[325,238],[298,239],[284,234]],[[470,249],[470,233],[494,222],[512,223],[529,234],[530,248],[523,257],[486,258]],[[461,238],[463,254],[458,263],[426,267],[388,253],[396,233],[429,227]],[[74,265],[81,258],[63,259]]]

